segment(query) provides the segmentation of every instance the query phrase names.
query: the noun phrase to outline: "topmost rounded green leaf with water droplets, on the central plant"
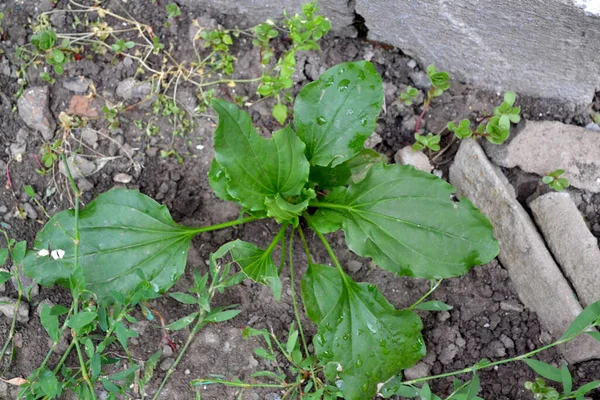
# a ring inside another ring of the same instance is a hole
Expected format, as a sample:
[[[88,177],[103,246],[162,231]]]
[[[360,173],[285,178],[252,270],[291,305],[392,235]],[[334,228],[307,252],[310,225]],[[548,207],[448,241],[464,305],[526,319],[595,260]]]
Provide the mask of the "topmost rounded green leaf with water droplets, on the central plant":
[[[338,64],[304,86],[294,103],[294,125],[311,165],[335,167],[358,153],[382,104],[381,76],[368,61]]]

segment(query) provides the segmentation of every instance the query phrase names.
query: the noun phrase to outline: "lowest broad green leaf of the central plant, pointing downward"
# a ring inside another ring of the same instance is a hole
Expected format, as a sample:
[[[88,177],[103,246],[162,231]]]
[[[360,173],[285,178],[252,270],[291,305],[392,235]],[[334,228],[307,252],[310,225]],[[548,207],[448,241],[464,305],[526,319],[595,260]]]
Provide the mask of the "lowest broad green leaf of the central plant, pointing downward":
[[[322,363],[340,365],[336,385],[348,400],[371,398],[379,383],[425,355],[419,316],[394,309],[375,285],[310,265],[302,298],[318,325],[316,354]]]

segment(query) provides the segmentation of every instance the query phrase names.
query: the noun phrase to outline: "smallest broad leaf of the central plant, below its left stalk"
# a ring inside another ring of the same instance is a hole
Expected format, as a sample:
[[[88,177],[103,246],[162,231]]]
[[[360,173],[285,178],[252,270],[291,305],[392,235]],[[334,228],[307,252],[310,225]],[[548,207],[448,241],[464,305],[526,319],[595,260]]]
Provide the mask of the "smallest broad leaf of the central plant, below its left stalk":
[[[277,276],[277,266],[271,257],[271,250],[262,250],[258,246],[235,240],[231,242],[229,250],[231,258],[235,261],[248,278],[268,284],[268,279]]]

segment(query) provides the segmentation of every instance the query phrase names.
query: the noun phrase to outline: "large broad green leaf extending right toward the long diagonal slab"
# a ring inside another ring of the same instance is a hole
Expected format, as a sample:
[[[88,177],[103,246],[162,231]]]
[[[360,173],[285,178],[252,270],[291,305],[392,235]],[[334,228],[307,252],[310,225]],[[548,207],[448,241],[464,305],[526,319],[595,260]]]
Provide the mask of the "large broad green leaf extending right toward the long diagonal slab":
[[[448,278],[498,254],[489,220],[467,199],[453,201],[447,182],[410,166],[376,165],[321,202],[313,221],[341,226],[348,247],[399,275]]]

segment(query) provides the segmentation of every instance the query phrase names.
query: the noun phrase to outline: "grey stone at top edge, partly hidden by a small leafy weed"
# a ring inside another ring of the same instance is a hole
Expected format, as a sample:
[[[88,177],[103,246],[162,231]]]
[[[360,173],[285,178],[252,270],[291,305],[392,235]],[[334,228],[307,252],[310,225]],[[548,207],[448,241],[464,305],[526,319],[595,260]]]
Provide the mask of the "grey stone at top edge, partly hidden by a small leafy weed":
[[[245,23],[241,28],[249,28],[267,18],[273,21],[280,21],[283,18],[283,11],[288,15],[300,13],[302,4],[308,0],[181,0],[180,4],[190,7],[198,6],[214,10],[224,14],[236,14],[242,17]],[[346,0],[320,0],[319,13],[325,15],[331,21],[331,28],[334,32],[347,36],[355,36],[354,29],[354,9],[351,2]],[[348,60],[350,61],[350,60]]]

